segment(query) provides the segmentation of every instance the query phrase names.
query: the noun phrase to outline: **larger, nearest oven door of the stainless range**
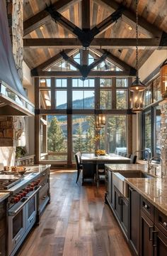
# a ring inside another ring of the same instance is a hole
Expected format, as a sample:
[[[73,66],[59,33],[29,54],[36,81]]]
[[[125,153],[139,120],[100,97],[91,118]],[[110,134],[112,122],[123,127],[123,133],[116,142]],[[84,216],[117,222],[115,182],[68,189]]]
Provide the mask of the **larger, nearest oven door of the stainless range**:
[[[16,215],[8,216],[8,255],[18,245],[25,233],[25,206]]]

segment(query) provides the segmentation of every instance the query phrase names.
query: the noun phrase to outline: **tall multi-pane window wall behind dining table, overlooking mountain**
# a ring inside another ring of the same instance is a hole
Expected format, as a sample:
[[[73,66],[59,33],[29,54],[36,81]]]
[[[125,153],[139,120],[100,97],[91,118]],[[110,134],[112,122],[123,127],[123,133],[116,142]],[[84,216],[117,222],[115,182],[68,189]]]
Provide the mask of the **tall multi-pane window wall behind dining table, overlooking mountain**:
[[[36,78],[39,161],[70,163],[76,151],[127,149],[129,82],[128,78]],[[106,124],[99,132],[95,120],[102,113]]]

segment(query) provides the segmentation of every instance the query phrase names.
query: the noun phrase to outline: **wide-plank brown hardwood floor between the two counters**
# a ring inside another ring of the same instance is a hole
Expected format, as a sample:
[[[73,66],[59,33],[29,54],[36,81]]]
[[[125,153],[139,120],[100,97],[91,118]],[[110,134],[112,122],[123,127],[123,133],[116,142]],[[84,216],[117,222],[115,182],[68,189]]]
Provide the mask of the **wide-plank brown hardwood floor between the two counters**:
[[[19,256],[130,256],[113,214],[104,203],[104,185],[76,184],[76,171],[52,171],[51,202]]]

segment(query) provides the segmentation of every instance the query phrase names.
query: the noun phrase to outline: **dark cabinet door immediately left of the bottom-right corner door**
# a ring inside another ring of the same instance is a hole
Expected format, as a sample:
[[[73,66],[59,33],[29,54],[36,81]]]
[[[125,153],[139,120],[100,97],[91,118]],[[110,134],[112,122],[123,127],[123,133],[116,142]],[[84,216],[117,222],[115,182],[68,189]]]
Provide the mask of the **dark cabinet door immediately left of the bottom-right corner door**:
[[[153,233],[154,223],[141,210],[140,218],[140,255],[152,256],[154,255],[153,247]]]

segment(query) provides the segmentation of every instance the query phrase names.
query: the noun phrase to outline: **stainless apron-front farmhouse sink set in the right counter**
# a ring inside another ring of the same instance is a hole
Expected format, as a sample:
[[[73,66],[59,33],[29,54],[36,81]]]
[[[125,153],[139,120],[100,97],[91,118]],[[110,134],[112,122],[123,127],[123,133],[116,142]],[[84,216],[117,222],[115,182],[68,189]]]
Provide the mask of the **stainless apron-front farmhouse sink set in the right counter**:
[[[118,171],[113,172],[113,186],[115,186],[123,196],[128,198],[128,185],[125,178],[154,178],[142,171]]]

